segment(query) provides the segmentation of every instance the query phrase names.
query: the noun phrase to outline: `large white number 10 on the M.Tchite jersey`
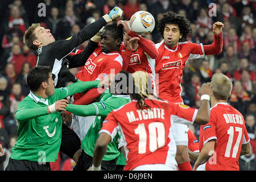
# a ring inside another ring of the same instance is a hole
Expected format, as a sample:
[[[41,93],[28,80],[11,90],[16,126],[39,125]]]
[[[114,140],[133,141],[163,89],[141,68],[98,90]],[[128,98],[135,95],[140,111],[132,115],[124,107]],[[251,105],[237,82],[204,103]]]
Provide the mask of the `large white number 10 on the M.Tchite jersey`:
[[[147,131],[144,123],[138,125],[134,130],[139,135],[139,154],[145,154],[147,149]],[[149,149],[154,152],[165,143],[165,130],[162,122],[152,122],[148,125]]]

